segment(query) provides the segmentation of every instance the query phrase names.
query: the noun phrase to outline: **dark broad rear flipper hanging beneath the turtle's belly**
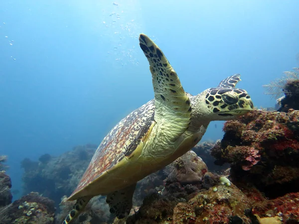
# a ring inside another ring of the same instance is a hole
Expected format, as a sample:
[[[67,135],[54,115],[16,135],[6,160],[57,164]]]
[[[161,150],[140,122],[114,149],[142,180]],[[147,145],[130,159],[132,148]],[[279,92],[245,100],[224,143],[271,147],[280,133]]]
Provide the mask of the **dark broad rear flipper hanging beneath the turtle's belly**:
[[[119,219],[128,217],[133,205],[132,201],[135,188],[136,183],[108,194],[106,202],[109,204],[110,213],[116,215]]]

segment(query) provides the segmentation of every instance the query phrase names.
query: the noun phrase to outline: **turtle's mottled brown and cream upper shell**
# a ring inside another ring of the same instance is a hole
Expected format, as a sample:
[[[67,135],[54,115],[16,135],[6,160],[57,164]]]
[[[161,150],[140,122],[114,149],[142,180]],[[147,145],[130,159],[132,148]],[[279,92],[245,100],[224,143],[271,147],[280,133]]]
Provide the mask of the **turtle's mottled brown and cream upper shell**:
[[[98,195],[99,192],[87,189],[91,184],[102,183],[103,176],[120,163],[125,157],[129,157],[148,134],[150,122],[154,116],[154,100],[138,108],[123,118],[106,135],[91,162],[89,163],[77,188],[68,198],[75,200],[82,196]],[[102,184],[101,187],[103,188]],[[110,186],[104,186],[109,188]],[[96,189],[96,188],[92,188]],[[101,193],[100,193],[101,194]]]

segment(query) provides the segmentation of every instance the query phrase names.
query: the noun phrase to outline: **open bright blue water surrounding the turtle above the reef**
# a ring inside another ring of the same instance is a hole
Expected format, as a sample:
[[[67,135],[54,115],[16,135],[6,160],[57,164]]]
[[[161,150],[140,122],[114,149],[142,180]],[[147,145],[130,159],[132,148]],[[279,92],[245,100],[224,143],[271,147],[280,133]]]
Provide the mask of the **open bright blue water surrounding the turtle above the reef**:
[[[24,157],[99,144],[153,98],[142,32],[185,91],[240,73],[255,106],[273,107],[262,85],[299,66],[298,9],[298,0],[1,0],[0,155],[13,189]],[[221,138],[222,123],[203,140]]]

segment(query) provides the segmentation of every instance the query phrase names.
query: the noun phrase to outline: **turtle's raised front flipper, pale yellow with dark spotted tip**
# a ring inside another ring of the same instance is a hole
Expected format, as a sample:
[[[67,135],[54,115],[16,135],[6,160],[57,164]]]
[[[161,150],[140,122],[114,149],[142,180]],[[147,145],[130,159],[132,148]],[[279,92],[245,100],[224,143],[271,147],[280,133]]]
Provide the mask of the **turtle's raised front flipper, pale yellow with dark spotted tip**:
[[[149,61],[154,90],[154,120],[171,129],[169,141],[181,135],[191,120],[191,104],[179,78],[160,48],[145,34],[140,34],[140,47]]]

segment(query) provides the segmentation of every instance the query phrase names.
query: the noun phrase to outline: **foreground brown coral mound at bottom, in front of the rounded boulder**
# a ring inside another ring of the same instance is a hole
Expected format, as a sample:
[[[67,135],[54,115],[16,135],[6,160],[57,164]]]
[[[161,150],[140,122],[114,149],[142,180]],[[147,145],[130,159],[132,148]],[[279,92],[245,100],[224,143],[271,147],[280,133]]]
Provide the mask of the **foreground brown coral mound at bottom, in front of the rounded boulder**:
[[[127,224],[250,224],[245,215],[250,200],[236,186],[222,185],[218,175],[213,178],[215,186],[208,190],[178,182],[165,186],[161,194],[148,196]]]

